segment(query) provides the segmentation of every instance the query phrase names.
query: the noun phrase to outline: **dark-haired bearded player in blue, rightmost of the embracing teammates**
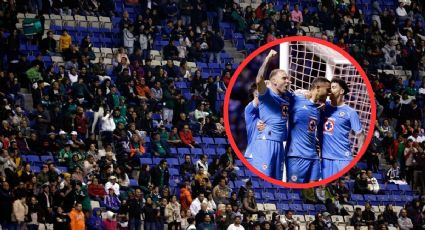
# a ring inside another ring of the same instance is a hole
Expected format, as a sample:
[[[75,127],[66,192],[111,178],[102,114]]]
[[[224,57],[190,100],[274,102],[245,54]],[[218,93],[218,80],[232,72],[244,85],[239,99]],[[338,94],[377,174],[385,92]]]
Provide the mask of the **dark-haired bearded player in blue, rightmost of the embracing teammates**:
[[[322,143],[322,176],[330,177],[344,169],[352,160],[350,132],[358,137],[358,146],[364,142],[362,123],[357,112],[344,103],[349,93],[347,83],[334,78],[331,81],[330,103],[326,103]]]

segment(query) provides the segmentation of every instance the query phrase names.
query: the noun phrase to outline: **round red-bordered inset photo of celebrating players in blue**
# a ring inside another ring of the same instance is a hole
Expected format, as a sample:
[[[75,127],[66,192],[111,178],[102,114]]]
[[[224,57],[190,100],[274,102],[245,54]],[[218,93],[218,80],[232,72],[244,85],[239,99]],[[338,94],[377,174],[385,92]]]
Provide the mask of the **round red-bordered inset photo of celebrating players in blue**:
[[[364,154],[375,99],[360,65],[339,47],[289,37],[254,51],[226,92],[232,148],[261,178],[309,188],[342,176]]]

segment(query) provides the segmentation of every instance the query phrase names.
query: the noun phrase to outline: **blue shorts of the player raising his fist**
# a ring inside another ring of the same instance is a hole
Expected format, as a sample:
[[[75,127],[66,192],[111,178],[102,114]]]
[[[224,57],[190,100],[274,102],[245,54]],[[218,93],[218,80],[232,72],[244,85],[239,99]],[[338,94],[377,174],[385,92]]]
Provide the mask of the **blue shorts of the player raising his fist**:
[[[245,152],[248,162],[268,177],[282,180],[284,147],[279,141],[254,140]]]

